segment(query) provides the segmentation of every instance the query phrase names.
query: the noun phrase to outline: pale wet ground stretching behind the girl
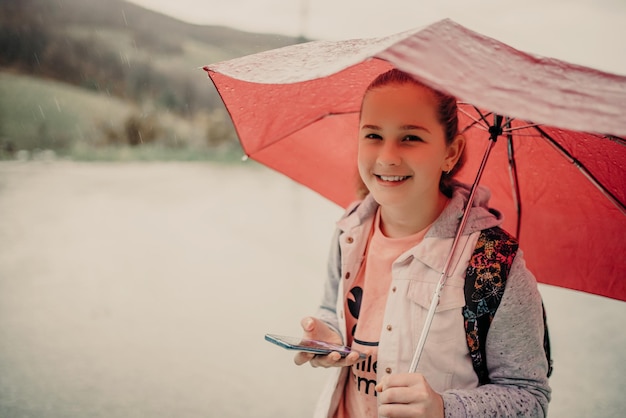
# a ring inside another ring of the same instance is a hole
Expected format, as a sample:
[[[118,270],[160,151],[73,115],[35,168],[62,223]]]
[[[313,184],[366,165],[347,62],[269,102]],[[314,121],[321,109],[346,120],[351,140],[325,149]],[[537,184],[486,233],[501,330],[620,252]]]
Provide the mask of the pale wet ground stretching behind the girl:
[[[252,163],[0,163],[0,417],[306,417],[340,209]],[[305,222],[301,222],[301,220]],[[550,417],[626,410],[626,303],[541,286]]]

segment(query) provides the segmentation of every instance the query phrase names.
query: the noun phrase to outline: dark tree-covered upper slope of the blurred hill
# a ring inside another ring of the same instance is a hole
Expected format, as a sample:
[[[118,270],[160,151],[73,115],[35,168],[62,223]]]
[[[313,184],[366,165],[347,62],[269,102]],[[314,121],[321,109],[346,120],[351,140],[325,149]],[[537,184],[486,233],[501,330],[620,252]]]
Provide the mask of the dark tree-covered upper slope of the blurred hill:
[[[115,42],[85,35],[90,31],[130,37],[138,52],[132,65]],[[298,40],[188,24],[123,0],[0,0],[0,69],[103,91],[135,103],[148,100],[183,116],[220,107],[217,93],[207,83],[206,94],[196,94],[198,84],[190,73],[158,68],[150,60],[176,59],[184,53],[182,45],[190,41],[206,44],[207,51],[221,60]]]

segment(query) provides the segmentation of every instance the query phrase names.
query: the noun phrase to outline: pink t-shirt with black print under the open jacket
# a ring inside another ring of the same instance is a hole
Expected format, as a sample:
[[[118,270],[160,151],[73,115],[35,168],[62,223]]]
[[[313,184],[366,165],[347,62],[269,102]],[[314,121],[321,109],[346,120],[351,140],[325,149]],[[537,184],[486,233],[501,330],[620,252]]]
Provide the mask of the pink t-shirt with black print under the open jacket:
[[[402,238],[388,238],[380,229],[380,208],[369,234],[365,260],[345,301],[347,340],[355,350],[369,355],[350,368],[335,418],[378,417],[376,364],[391,266],[404,252],[419,244],[428,227]]]

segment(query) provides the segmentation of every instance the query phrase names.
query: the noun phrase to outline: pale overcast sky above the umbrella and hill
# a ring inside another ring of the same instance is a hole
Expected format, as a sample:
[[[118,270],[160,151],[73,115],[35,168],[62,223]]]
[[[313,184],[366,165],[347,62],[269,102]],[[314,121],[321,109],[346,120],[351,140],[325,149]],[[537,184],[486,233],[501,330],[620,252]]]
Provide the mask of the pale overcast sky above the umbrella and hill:
[[[128,0],[191,23],[368,38],[443,18],[526,52],[626,75],[626,0]]]

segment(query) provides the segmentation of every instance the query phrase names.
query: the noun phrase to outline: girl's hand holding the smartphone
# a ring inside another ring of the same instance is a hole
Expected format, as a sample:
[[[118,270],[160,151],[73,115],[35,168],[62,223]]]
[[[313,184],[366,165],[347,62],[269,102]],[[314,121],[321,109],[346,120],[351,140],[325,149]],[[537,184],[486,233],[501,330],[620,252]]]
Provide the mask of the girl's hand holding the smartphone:
[[[309,340],[326,341],[333,344],[342,344],[341,336],[332,328],[317,318],[304,318],[300,325],[304,330],[302,338]],[[315,355],[312,353],[297,353],[293,361],[298,365],[310,363],[313,367],[346,367],[352,366],[359,360],[359,353],[350,353],[345,358],[341,354],[334,351],[326,356]]]

